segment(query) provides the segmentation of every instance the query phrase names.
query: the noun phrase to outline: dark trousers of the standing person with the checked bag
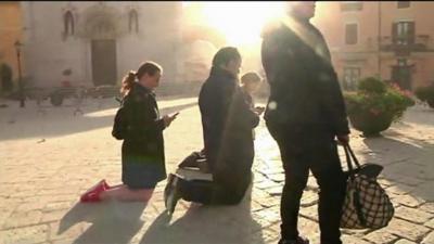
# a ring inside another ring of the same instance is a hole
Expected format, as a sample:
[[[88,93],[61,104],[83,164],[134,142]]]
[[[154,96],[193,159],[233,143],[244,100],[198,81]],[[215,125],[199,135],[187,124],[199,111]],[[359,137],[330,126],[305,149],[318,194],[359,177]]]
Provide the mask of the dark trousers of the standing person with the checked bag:
[[[334,136],[307,126],[289,127],[267,123],[267,127],[279,144],[285,172],[280,205],[282,237],[295,240],[298,236],[299,202],[310,169],[320,189],[318,215],[321,244],[342,244],[340,220],[346,178]]]

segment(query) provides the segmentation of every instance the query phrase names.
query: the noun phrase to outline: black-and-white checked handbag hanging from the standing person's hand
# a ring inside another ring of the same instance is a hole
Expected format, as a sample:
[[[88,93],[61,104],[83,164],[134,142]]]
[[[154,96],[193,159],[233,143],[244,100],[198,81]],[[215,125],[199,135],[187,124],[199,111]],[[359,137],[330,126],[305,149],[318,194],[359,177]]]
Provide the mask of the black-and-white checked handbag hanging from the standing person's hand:
[[[383,166],[360,165],[349,145],[344,145],[348,166],[341,228],[380,229],[392,220],[395,209],[384,189],[376,182]],[[355,165],[353,165],[353,163]]]

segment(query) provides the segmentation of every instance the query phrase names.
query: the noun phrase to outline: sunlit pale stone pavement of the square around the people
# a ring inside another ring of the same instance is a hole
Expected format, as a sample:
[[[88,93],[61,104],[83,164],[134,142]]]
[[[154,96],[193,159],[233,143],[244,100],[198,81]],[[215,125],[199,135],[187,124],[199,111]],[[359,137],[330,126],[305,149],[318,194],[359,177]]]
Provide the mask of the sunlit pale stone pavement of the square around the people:
[[[163,113],[180,111],[165,131],[167,170],[202,147],[196,99],[166,99]],[[256,129],[254,183],[243,203],[204,207],[180,201],[171,219],[157,185],[146,204],[79,204],[79,194],[105,178],[120,179],[120,141],[111,137],[116,102],[0,108],[0,243],[213,243],[268,244],[279,239],[284,180],[279,152],[264,121]],[[345,244],[434,243],[434,111],[413,107],[381,138],[353,131],[361,162],[385,166],[380,182],[396,206],[388,227],[346,231]],[[342,153],[342,150],[341,150]],[[319,243],[317,192],[309,178],[299,229]]]

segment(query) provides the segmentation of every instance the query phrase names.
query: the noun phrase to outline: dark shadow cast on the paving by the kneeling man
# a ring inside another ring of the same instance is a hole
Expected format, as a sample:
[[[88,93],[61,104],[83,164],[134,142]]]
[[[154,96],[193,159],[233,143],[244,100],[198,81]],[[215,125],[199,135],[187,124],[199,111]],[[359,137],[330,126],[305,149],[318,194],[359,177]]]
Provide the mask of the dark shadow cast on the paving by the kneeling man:
[[[251,200],[247,196],[237,206],[191,205],[173,222],[167,213],[163,213],[151,224],[140,243],[264,244],[264,240],[261,226],[251,216]]]

